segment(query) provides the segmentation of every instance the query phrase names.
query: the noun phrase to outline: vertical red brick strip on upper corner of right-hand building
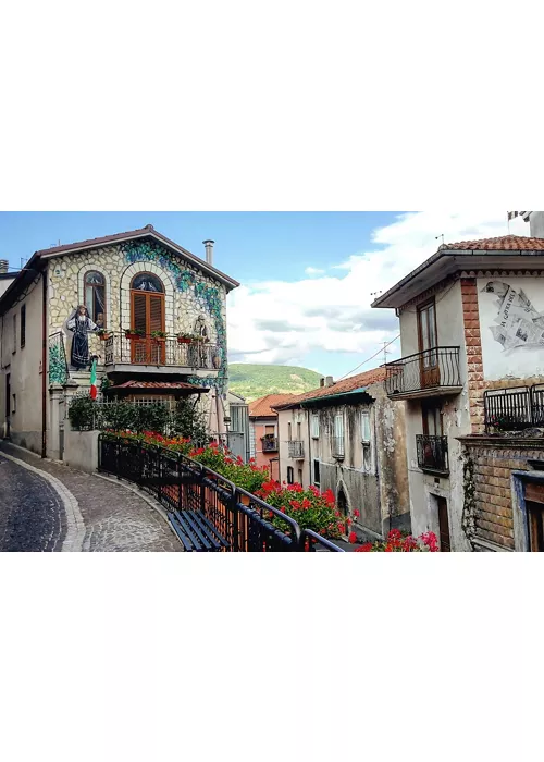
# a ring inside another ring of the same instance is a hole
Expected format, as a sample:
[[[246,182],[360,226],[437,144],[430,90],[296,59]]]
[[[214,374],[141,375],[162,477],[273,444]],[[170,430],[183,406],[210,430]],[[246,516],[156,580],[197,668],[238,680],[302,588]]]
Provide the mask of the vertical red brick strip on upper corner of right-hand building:
[[[470,406],[470,422],[473,434],[484,431],[483,411],[483,362],[478,312],[478,288],[475,278],[461,278],[462,317],[465,321],[465,343],[467,346],[467,382]]]

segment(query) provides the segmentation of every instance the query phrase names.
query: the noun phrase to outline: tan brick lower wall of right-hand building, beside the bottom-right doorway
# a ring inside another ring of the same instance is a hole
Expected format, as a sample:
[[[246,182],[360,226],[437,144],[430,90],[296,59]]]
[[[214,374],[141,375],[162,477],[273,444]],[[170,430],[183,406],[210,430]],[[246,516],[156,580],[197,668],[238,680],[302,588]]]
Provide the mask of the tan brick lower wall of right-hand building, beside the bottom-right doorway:
[[[514,550],[511,471],[530,470],[528,460],[544,460],[544,442],[535,444],[508,441],[509,446],[463,440],[473,465],[472,537]],[[465,483],[466,497],[470,490]],[[465,516],[465,518],[467,518]]]

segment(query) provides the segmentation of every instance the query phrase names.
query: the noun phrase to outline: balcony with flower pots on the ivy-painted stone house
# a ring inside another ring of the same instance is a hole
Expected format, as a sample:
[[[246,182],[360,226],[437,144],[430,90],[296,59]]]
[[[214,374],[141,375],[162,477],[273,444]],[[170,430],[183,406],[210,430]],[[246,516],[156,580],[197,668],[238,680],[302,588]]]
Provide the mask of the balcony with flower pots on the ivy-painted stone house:
[[[89,336],[90,339],[90,336]],[[196,370],[219,370],[221,348],[214,344],[180,344],[176,337],[157,340],[150,336],[127,339],[124,333],[112,332],[104,341],[92,337],[90,353],[100,356],[108,372],[141,371],[154,373],[191,373]]]

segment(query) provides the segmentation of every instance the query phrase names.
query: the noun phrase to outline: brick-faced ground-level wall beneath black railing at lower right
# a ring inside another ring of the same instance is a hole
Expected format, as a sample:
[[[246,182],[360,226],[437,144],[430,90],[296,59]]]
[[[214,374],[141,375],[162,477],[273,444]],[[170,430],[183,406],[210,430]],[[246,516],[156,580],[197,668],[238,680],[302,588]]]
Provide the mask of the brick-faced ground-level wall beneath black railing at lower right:
[[[544,441],[463,440],[463,524],[473,550],[527,550],[516,537],[511,476],[530,471],[528,460],[544,462]]]

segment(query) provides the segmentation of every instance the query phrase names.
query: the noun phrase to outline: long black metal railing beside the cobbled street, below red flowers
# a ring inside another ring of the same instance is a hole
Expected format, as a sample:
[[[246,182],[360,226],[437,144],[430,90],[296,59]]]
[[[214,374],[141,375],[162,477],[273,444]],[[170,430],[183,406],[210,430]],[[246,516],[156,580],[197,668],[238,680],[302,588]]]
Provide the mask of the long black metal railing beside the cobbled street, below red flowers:
[[[100,434],[98,469],[137,483],[166,512],[197,511],[211,521],[233,552],[341,552],[326,538],[300,526],[260,497],[242,490],[220,474],[166,447],[134,439]],[[277,529],[272,519],[281,519]]]

